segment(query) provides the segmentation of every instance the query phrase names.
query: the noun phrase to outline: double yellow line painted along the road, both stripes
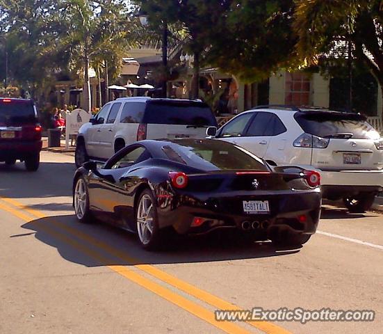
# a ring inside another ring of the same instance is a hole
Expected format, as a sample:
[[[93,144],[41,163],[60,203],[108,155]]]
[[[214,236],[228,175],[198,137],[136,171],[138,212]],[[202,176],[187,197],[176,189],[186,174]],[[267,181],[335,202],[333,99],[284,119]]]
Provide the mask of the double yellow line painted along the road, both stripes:
[[[26,222],[31,221],[31,216],[34,218],[49,218],[42,212],[39,212],[35,209],[31,209],[30,207],[23,205],[22,203],[11,198],[0,197],[0,209],[2,209],[5,212],[9,212],[10,214],[13,214],[14,216],[17,216],[18,218]],[[26,213],[28,213],[28,215],[31,216],[26,215]],[[190,285],[189,283],[186,283],[183,280],[179,280],[179,278],[176,278],[170,275],[169,273],[165,273],[165,271],[162,271],[152,265],[134,264],[138,262],[137,259],[130,257],[129,255],[127,255],[127,253],[122,252],[121,250],[118,250],[117,248],[114,248],[109,244],[106,244],[104,241],[101,241],[79,230],[71,228],[70,226],[67,226],[64,223],[58,221],[56,218],[50,218],[49,223],[49,225],[41,224],[39,226],[40,230],[43,230],[44,232],[53,235],[57,239],[60,239],[60,241],[65,242],[66,244],[70,244],[70,246],[76,248],[77,250],[80,250],[82,253],[85,253],[92,259],[97,260],[100,264],[103,264],[105,267],[108,267],[109,269],[115,271],[124,278],[131,280],[131,282],[134,282],[140,285],[141,287],[144,287],[145,289],[153,292],[154,294],[161,296],[163,299],[174,303],[180,308],[190,312],[191,314],[195,315],[196,317],[199,317],[200,319],[203,319],[204,321],[207,321],[209,324],[220,328],[226,333],[250,333],[249,331],[234,323],[227,321],[216,321],[214,313],[211,312],[211,310],[208,310],[202,307],[201,305],[195,303],[194,301],[191,301],[190,299],[187,299],[184,296],[173,292],[172,290],[156,283],[155,281],[149,280],[145,276],[140,275],[136,271],[132,271],[128,267],[120,265],[107,265],[108,258],[105,255],[102,255],[101,252],[91,250],[87,246],[84,246],[83,243],[76,241],[75,239],[72,239],[70,237],[66,237],[65,234],[57,232],[56,230],[54,230],[54,228],[51,228],[50,226],[54,225],[56,226],[56,228],[65,230],[67,233],[72,234],[72,236],[76,237],[77,239],[81,241],[86,241],[88,244],[95,246],[96,250],[103,250],[109,255],[117,257],[120,260],[131,264],[132,267],[135,267],[140,271],[148,273],[150,276],[153,276],[161,282],[167,283],[168,285],[171,285],[172,287],[175,287],[180,291],[185,292],[186,294],[189,294],[190,296],[193,296],[196,299],[199,299],[200,301],[203,301],[204,303],[212,305],[217,309],[240,310],[238,306],[228,303],[227,301],[224,301],[218,298],[217,296],[213,296],[212,294],[209,294],[209,292],[199,289],[193,285]],[[267,321],[250,321],[248,322],[248,324],[268,334],[290,334],[290,332],[286,331],[284,328],[276,326],[275,324],[272,324]]]

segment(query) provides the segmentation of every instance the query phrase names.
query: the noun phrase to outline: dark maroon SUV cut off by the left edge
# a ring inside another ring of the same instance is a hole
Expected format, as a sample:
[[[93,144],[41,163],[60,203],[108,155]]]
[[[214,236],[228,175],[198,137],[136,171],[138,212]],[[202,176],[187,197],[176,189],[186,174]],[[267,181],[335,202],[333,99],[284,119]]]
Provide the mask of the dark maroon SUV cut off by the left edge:
[[[26,170],[38,170],[42,148],[41,126],[32,100],[0,97],[0,161],[24,161]]]

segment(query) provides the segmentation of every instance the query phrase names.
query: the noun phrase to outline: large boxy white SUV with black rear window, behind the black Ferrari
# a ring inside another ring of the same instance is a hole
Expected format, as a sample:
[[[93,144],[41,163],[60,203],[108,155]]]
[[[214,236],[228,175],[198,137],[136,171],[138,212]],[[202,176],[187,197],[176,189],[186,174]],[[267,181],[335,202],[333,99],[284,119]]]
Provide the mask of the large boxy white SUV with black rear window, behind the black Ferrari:
[[[123,97],[105,104],[79,129],[76,166],[105,161],[143,139],[205,138],[208,127],[217,127],[217,121],[200,100]]]

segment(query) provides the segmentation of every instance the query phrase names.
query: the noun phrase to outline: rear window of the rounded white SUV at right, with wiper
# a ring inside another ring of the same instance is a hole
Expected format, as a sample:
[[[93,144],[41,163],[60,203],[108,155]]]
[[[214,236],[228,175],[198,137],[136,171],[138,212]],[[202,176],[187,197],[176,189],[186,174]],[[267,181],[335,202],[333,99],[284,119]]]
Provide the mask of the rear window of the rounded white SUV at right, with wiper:
[[[342,134],[352,134],[355,139],[380,138],[366,118],[357,113],[303,111],[294,117],[304,132],[322,138],[342,138]]]

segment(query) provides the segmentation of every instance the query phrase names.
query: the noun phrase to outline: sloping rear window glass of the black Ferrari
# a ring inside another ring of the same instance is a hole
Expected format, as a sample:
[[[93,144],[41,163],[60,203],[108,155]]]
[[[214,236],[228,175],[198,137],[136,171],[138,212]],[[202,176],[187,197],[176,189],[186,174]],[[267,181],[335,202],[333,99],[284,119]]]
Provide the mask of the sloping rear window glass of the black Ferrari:
[[[230,143],[184,139],[162,148],[168,159],[201,170],[262,170],[268,167],[255,155]]]

